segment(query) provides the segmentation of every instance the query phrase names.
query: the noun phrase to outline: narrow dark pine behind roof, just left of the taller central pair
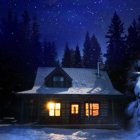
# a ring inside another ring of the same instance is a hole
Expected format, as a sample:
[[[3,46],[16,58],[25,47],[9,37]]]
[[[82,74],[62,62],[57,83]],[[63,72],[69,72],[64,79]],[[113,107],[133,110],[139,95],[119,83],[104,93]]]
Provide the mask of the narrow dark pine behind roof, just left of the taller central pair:
[[[82,67],[82,59],[81,59],[81,54],[79,50],[79,46],[77,44],[76,49],[75,49],[75,63],[74,63],[75,68],[81,68]]]

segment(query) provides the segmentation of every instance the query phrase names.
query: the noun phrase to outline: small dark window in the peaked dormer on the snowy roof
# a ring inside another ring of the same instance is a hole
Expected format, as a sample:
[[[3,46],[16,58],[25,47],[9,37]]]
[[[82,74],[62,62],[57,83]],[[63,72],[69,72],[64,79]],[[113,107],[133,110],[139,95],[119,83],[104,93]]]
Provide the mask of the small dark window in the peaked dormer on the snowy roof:
[[[64,87],[64,77],[54,76],[53,77],[53,87]]]

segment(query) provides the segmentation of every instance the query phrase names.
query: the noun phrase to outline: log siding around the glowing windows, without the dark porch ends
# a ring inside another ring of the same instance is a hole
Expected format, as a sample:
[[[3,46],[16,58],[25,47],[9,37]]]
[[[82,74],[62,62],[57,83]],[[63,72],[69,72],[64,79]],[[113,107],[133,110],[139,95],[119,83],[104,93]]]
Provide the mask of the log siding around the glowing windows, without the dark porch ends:
[[[49,112],[46,109],[46,103],[53,101],[53,102],[60,102],[61,103],[61,116],[60,117],[50,117]],[[83,98],[76,96],[75,98],[67,98],[64,99],[63,97],[48,97],[48,98],[41,98],[40,100],[40,121],[45,123],[56,122],[55,119],[59,119],[59,122],[63,124],[70,123],[70,105],[71,103],[77,102],[79,103],[79,123],[110,123],[109,119],[109,101],[108,99],[101,99],[101,98]],[[85,103],[95,102],[99,103],[99,116],[97,117],[90,117],[88,118],[85,116]],[[57,123],[57,122],[56,122]]]

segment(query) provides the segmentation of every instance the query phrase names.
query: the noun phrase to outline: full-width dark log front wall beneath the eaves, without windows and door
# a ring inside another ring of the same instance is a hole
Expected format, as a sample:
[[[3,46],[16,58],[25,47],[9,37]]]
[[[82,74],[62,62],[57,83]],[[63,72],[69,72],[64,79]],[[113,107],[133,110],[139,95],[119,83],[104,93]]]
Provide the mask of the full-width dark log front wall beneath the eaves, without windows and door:
[[[47,102],[61,103],[60,117],[49,116]],[[99,116],[85,115],[85,103],[99,103]],[[120,101],[119,101],[120,102]],[[38,122],[40,124],[71,124],[71,104],[79,104],[79,124],[115,124],[118,123],[120,108],[118,99],[110,96],[93,95],[22,95],[19,96],[19,117],[21,123]],[[117,115],[118,114],[118,115]]]

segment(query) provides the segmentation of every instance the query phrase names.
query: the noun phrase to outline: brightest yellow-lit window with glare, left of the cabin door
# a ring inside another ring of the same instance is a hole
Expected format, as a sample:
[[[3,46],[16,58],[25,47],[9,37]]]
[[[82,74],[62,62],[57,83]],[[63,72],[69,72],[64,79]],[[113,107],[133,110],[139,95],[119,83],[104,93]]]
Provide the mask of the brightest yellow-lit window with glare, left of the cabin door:
[[[60,109],[61,109],[60,103],[49,102],[47,104],[47,108],[49,110],[49,116],[60,116]]]

